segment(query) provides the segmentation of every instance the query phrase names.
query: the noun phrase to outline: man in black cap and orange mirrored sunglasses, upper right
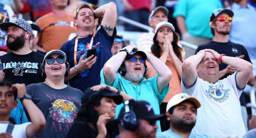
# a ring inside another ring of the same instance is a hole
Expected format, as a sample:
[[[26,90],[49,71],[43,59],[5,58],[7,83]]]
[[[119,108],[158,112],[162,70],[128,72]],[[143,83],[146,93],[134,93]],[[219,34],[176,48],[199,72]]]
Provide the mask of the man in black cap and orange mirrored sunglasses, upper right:
[[[231,57],[239,57],[251,63],[250,57],[245,47],[240,44],[232,43],[228,40],[228,34],[230,32],[233,15],[234,13],[228,9],[216,9],[213,11],[210,17],[211,33],[214,36],[213,40],[207,44],[199,46],[195,54],[202,49],[213,49],[218,53],[222,53]],[[219,70],[220,80],[237,71],[237,69],[227,64],[220,64]],[[253,73],[251,73],[250,79],[247,84],[253,86],[254,83],[255,79]],[[246,130],[248,130],[244,92],[240,96],[240,104],[245,128]]]

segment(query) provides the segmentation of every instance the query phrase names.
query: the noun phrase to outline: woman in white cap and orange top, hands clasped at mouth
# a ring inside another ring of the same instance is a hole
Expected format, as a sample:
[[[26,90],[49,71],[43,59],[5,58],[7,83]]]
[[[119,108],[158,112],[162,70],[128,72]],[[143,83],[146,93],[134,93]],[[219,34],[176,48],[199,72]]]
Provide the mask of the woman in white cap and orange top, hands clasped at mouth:
[[[164,21],[157,24],[151,52],[154,56],[165,63],[173,73],[172,79],[169,82],[169,92],[163,103],[160,105],[160,113],[166,112],[166,105],[173,95],[181,93],[181,65],[183,61],[183,49],[178,46],[178,41],[179,36],[175,33],[175,28],[171,23]],[[148,62],[147,65],[148,71],[145,77],[154,77],[157,74],[156,70]],[[160,123],[163,131],[165,127],[162,125],[161,121]]]

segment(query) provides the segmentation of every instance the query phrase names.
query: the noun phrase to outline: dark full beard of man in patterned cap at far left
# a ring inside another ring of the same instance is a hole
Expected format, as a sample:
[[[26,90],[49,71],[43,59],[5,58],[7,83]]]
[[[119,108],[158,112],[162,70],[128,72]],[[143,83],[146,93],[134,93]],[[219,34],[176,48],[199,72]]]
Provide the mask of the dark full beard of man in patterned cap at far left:
[[[22,33],[20,36],[17,36],[13,42],[8,42],[8,40],[6,40],[7,48],[13,51],[23,48],[25,44],[24,35],[25,33]]]

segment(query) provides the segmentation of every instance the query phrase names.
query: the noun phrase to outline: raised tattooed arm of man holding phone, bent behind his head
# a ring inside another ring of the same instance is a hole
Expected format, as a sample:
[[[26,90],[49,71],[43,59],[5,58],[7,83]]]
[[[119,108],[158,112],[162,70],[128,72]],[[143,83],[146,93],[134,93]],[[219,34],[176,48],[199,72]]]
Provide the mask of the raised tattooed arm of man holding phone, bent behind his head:
[[[102,19],[102,27],[108,33],[108,35],[112,36],[113,31],[117,22],[117,7],[113,2],[107,3],[105,5],[100,6],[95,11],[96,17],[103,16]]]

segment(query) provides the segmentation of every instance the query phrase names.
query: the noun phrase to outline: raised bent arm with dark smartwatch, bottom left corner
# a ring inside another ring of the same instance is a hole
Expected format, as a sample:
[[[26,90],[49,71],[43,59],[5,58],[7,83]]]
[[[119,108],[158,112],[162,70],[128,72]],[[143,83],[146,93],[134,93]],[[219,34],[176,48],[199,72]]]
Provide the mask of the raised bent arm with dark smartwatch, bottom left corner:
[[[18,97],[21,98],[27,94],[25,84],[13,84],[10,90],[18,90]],[[31,99],[24,99],[22,101],[23,106],[27,109],[31,124],[26,128],[26,134],[28,138],[32,138],[40,134],[45,128],[46,121],[43,113],[37,106],[32,102]]]

